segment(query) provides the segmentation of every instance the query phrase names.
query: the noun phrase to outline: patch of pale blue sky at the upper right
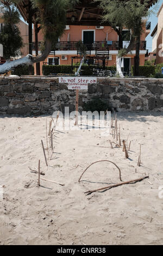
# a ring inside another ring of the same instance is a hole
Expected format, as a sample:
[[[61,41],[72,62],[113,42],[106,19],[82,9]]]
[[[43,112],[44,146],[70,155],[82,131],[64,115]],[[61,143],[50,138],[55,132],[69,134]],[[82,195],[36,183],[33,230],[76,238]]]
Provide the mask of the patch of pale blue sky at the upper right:
[[[163,0],[159,0],[157,4],[155,4],[153,7],[151,7],[149,10],[151,11],[151,15],[148,17],[148,21],[151,21],[151,32],[150,34],[146,37],[147,41],[147,49],[149,52],[152,52],[152,32],[153,29],[155,28],[156,24],[158,23],[158,11],[161,7],[161,4],[163,3]]]

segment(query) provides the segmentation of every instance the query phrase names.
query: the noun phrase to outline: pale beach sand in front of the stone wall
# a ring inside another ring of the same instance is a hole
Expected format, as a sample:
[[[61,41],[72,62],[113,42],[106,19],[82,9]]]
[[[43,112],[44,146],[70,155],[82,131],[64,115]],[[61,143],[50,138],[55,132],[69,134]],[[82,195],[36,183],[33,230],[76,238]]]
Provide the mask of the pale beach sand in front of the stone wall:
[[[48,168],[41,139],[46,146],[46,118],[49,123],[51,117],[1,117],[0,245],[161,245],[163,199],[158,188],[163,185],[163,117],[140,114],[118,114],[121,138],[130,133],[132,141],[129,159],[122,148],[101,148],[110,147],[112,136],[101,136],[99,130],[69,131],[56,133],[56,154]],[[139,143],[142,164],[137,167]],[[39,159],[46,173],[41,177],[64,187],[43,180],[37,187],[37,174],[28,166],[34,169]],[[102,162],[88,169],[79,183],[83,170],[98,160],[115,162],[123,181],[143,175],[149,179],[86,196],[87,190],[120,182],[116,167]]]

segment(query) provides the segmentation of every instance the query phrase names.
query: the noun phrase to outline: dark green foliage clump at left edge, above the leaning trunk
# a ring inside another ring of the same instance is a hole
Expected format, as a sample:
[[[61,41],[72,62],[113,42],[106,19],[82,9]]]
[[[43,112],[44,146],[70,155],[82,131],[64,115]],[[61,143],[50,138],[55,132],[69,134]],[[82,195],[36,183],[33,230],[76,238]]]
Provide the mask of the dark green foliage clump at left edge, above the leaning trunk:
[[[6,23],[0,34],[0,44],[3,45],[3,56],[5,59],[18,56],[23,46],[23,40],[18,27]]]

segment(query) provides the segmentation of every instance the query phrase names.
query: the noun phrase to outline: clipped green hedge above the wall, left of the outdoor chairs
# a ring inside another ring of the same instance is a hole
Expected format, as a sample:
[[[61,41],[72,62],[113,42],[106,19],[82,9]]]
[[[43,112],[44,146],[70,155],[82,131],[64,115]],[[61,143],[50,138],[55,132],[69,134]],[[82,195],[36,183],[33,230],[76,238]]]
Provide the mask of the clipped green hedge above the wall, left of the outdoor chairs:
[[[72,66],[70,65],[44,65],[42,73],[45,76],[50,74],[73,74]]]

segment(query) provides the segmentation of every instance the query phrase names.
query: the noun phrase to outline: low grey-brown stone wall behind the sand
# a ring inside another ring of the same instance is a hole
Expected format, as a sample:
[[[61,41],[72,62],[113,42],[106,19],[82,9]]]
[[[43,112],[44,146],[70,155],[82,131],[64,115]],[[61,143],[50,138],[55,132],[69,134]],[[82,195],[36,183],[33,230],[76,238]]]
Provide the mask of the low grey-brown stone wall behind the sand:
[[[0,77],[0,115],[40,115],[74,110],[76,93],[57,77]],[[163,79],[98,78],[88,91],[79,91],[79,109],[84,102],[97,97],[117,111],[163,111]]]

